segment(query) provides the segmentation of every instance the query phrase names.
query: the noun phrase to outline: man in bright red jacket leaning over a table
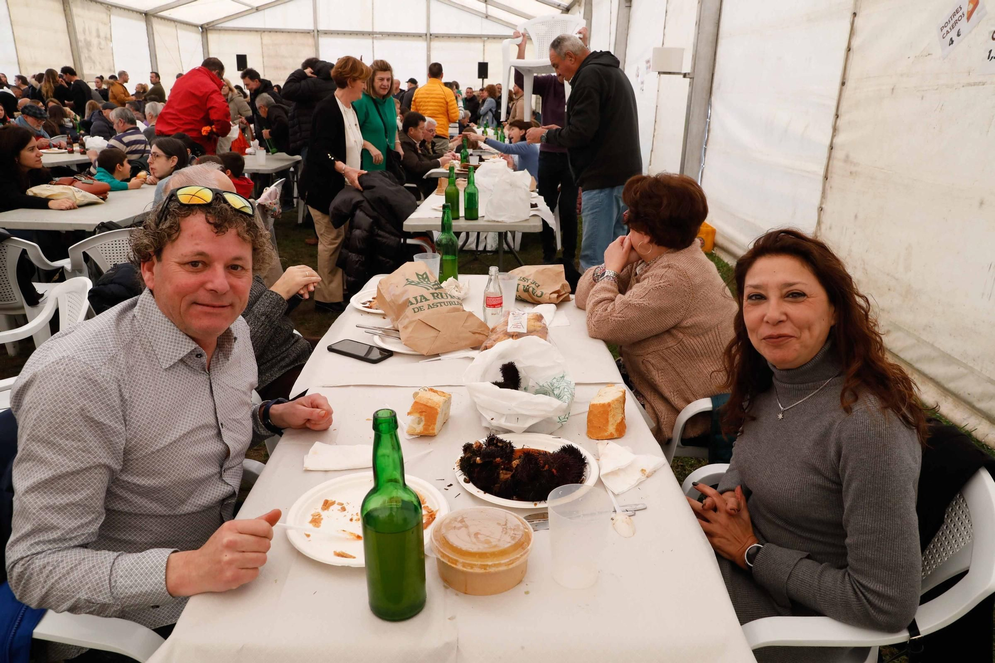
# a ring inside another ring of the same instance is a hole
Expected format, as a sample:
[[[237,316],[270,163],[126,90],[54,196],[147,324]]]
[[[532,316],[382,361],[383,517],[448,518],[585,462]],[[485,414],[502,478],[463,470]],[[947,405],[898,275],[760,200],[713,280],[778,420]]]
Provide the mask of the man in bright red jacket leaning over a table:
[[[232,130],[231,110],[221,94],[225,66],[217,58],[208,58],[176,79],[169,101],[155,121],[155,135],[186,133],[214,154],[218,137]],[[207,135],[204,128],[209,127]]]

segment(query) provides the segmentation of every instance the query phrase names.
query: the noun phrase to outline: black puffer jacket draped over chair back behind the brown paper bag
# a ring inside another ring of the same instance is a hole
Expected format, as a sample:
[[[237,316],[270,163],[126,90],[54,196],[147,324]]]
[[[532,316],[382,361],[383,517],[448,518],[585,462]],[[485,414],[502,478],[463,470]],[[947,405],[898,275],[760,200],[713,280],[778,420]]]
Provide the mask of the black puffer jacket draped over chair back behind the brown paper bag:
[[[345,272],[345,289],[358,293],[370,277],[390,274],[411,260],[404,243],[404,221],[418,207],[411,195],[389,174],[374,170],[360,175],[362,191],[343,189],[328,213],[331,225],[349,224],[337,266]]]

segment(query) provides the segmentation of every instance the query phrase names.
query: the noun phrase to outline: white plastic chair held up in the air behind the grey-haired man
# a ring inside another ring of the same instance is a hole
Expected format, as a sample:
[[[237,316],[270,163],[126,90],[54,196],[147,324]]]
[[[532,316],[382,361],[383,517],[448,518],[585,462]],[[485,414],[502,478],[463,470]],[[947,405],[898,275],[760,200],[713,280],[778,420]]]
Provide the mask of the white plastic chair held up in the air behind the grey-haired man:
[[[518,32],[522,33],[519,39],[505,39],[501,42],[501,99],[500,108],[497,109],[498,117],[504,119],[504,111],[507,109],[507,93],[514,83],[512,69],[521,72],[524,79],[524,117],[529,121],[532,117],[532,77],[536,74],[552,74],[553,66],[549,64],[549,45],[560,35],[575,35],[577,31],[586,25],[584,17],[577,14],[546,14],[536,16],[525,21],[518,26]],[[515,60],[517,53],[511,49],[517,49],[525,36],[530,37],[535,46],[535,60]],[[564,84],[568,85],[568,84]],[[567,95],[569,95],[569,86]]]

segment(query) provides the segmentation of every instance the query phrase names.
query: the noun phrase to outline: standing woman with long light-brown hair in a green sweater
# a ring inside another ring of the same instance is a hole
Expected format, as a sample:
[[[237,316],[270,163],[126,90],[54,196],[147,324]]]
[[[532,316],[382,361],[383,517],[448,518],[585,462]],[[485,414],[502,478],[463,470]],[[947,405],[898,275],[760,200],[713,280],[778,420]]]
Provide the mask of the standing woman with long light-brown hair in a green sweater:
[[[373,73],[366,82],[366,91],[358,102],[352,104],[363,134],[362,170],[384,170],[387,167],[387,150],[401,151],[397,141],[397,109],[390,88],[394,83],[394,70],[386,60],[370,64]]]

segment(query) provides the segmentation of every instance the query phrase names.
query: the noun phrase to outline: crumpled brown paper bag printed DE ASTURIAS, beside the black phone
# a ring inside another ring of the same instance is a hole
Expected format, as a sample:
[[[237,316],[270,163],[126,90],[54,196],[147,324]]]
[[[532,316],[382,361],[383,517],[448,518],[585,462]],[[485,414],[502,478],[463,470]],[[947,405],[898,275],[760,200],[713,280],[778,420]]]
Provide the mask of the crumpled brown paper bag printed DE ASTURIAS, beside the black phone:
[[[401,342],[422,354],[477,347],[488,326],[439,285],[423,262],[405,263],[376,288],[377,303],[401,332]]]

